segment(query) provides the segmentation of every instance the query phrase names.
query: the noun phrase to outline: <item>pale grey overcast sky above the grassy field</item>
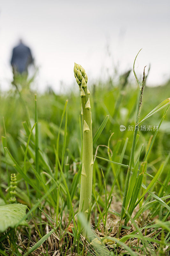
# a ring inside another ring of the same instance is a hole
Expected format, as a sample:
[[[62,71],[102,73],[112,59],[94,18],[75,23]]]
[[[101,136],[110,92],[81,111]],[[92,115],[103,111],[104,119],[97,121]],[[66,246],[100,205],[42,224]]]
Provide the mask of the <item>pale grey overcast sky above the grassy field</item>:
[[[148,83],[170,77],[169,0],[1,0],[0,87],[12,80],[10,58],[18,39],[31,48],[39,67],[38,88],[59,90],[60,81],[74,81],[74,62],[90,81],[105,78],[106,70],[120,73],[136,65],[137,74],[151,63]],[[108,46],[108,47],[107,47]],[[110,57],[109,57],[109,54]]]

